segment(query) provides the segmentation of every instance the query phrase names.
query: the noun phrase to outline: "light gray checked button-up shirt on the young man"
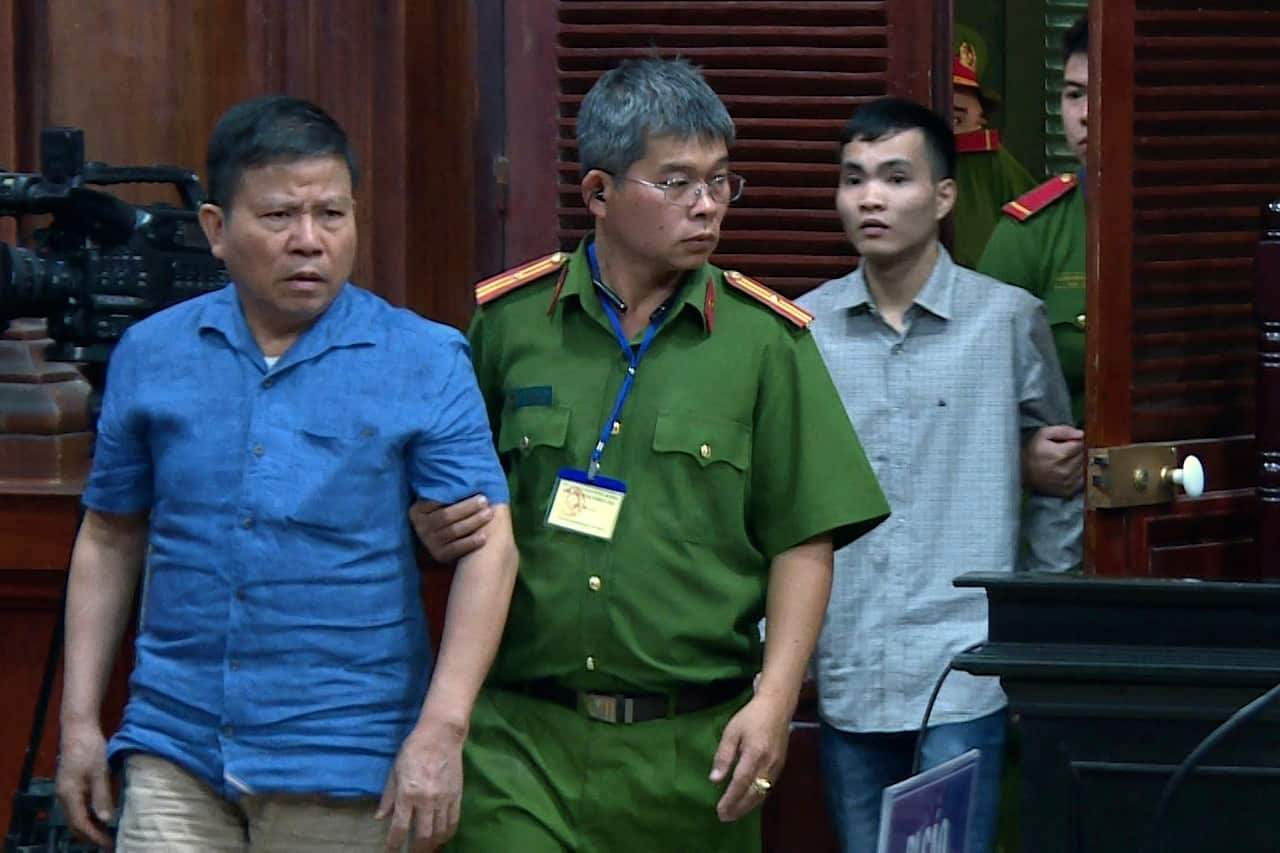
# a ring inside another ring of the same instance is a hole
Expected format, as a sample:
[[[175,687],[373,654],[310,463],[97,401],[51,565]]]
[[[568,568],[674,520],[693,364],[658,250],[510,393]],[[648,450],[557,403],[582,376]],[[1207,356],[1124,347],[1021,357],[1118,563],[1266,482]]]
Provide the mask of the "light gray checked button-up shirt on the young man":
[[[861,269],[800,305],[893,512],[836,552],[819,708],[846,731],[919,729],[934,680],[987,635],[986,594],[952,579],[1080,560],[1082,498],[1024,502],[1020,480],[1024,434],[1071,423],[1053,338],[1039,300],[946,250],[901,333],[876,310]],[[929,724],[1004,703],[995,678],[952,672]]]

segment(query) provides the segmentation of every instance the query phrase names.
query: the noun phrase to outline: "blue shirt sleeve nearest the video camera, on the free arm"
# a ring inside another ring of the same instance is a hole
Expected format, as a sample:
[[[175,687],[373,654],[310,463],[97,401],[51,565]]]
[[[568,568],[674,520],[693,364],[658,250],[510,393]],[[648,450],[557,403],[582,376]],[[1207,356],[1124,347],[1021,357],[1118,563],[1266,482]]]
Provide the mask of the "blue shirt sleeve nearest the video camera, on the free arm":
[[[84,487],[84,506],[100,512],[141,512],[151,507],[155,475],[147,443],[141,393],[146,380],[143,347],[127,332],[106,369],[102,411],[97,419],[93,467]]]

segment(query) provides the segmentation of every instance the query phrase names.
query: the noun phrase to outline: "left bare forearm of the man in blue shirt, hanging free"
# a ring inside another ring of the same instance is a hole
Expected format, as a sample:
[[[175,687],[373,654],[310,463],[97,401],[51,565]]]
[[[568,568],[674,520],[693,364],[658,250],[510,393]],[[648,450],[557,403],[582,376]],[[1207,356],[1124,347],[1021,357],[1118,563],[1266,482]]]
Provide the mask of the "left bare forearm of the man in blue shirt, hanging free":
[[[146,515],[84,514],[67,581],[64,726],[99,725],[146,544]]]

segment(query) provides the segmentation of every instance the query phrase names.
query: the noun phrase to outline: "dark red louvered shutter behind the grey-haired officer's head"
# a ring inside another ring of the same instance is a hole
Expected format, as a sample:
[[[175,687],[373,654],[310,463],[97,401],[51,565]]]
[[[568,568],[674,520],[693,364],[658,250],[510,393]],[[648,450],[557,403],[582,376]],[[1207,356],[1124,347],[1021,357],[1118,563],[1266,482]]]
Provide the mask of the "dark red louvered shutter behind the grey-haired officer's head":
[[[716,263],[740,269],[787,295],[847,273],[854,256],[835,213],[840,129],[854,108],[890,91],[928,101],[929,61],[938,18],[931,0],[813,3],[649,3],[644,0],[536,1],[516,12],[508,33],[508,99],[538,93],[530,76],[553,60],[549,82],[557,118],[550,152],[508,132],[512,186],[520,170],[554,170],[553,196],[517,200],[512,216],[553,215],[553,229],[530,233],[515,223],[512,261],[524,254],[570,248],[590,227],[577,188],[573,122],[591,83],[632,56],[684,56],[701,67],[737,126],[733,169],[746,177],[745,196],[726,220]],[[508,10],[508,15],[512,12]],[[945,19],[943,19],[945,20]],[[511,24],[508,23],[508,27]],[[553,50],[529,47],[553,41]],[[550,54],[550,55],[548,55]],[[508,113],[536,109],[512,101]],[[525,115],[521,128],[536,124]],[[512,128],[515,129],[515,128]],[[539,131],[541,132],[541,131]],[[526,155],[517,147],[532,146]],[[545,159],[539,159],[550,154]],[[536,181],[536,174],[525,174]],[[541,201],[539,201],[541,200]],[[549,201],[549,204],[548,204]],[[527,241],[543,237],[539,248]]]

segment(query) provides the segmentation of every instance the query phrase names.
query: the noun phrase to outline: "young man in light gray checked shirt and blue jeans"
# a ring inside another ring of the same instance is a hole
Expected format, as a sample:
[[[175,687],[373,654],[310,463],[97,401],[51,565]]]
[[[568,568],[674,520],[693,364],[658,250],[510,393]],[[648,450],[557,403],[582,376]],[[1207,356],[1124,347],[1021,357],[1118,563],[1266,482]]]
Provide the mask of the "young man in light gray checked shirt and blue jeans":
[[[861,264],[800,305],[893,511],[836,553],[815,658],[824,789],[852,853],[876,849],[881,792],[910,772],[934,680],[986,638],[982,590],[952,579],[1070,569],[1083,512],[1079,496],[1023,500],[1024,437],[1070,423],[1070,400],[1041,302],[938,243],[956,197],[951,129],[884,99],[841,145],[836,206]],[[924,767],[983,753],[975,853],[992,845],[1004,708],[995,679],[952,674],[924,738]]]

